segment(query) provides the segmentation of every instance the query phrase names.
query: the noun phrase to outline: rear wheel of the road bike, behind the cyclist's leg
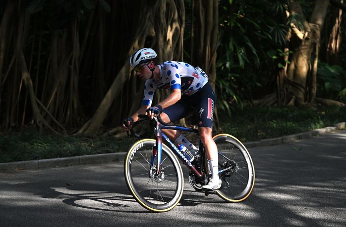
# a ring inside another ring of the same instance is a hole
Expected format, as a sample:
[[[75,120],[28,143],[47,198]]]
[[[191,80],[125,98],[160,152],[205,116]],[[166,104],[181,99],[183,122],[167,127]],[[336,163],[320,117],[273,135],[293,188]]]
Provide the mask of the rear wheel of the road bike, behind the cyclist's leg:
[[[255,167],[250,153],[234,136],[219,134],[213,139],[217,146],[219,178],[222,181],[216,194],[228,202],[241,202],[251,194],[255,185]],[[205,167],[211,174],[205,155]]]

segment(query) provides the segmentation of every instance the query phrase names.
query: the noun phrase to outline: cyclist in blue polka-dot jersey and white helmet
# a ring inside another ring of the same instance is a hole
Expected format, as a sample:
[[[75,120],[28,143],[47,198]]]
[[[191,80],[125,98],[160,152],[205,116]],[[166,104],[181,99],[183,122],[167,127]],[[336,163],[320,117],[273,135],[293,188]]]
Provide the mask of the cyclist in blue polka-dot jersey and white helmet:
[[[198,112],[198,131],[206,149],[212,178],[205,189],[219,189],[221,180],[218,177],[217,147],[212,138],[213,113],[216,97],[208,82],[208,76],[199,67],[193,67],[184,62],[167,61],[155,64],[157,54],[151,48],[135,51],[130,57],[130,65],[136,75],[145,81],[142,107],[123,121],[125,131],[130,130],[131,124],[138,120],[138,114],[147,114],[151,118],[160,112],[162,120],[171,122],[181,119],[192,112]],[[154,92],[166,88],[171,94],[160,103],[152,106]],[[183,94],[181,94],[183,93]],[[187,149],[197,149],[179,131],[163,130],[175,143],[184,144]]]

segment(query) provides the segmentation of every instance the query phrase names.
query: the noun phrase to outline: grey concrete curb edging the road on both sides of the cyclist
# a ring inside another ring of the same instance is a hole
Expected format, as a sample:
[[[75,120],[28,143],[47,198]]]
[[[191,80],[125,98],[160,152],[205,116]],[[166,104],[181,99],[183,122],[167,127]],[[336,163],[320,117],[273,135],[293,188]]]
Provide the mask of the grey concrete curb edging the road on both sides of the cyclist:
[[[319,136],[323,133],[328,133],[328,132],[341,130],[341,129],[346,129],[346,122],[340,122],[340,123],[334,124],[334,127],[325,127],[325,128],[315,129],[312,131],[297,133],[297,134],[293,134],[289,136],[282,136],[282,137],[264,139],[264,140],[253,141],[253,142],[245,142],[244,145],[245,147],[248,147],[248,148],[253,148],[258,146],[278,145],[278,144],[290,143],[290,142],[294,142],[294,141],[298,141],[302,139],[307,139],[313,136]],[[0,163],[0,172],[122,161],[124,160],[126,153],[127,152],[91,154],[91,155],[83,155],[83,156],[75,156],[75,157],[63,157],[63,158],[51,158],[51,159],[41,159],[41,160],[33,160],[33,161]]]

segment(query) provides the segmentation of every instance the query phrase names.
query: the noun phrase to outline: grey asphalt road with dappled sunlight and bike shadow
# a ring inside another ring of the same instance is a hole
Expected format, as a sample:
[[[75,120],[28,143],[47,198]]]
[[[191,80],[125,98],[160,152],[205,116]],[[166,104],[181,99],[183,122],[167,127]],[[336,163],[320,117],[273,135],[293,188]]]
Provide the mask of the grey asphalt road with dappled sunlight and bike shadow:
[[[0,226],[346,226],[346,130],[249,151],[248,199],[225,203],[185,177],[178,206],[160,214],[132,198],[123,162],[0,173]]]

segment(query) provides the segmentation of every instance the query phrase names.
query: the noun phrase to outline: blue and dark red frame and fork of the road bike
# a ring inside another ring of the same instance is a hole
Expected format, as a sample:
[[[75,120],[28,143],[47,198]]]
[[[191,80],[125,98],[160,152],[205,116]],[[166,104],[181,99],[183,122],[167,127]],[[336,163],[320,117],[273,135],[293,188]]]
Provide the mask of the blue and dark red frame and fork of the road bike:
[[[154,160],[155,156],[157,155],[157,174],[159,175],[161,171],[161,154],[162,154],[162,142],[163,139],[165,139],[168,143],[167,145],[170,147],[170,149],[175,153],[175,156],[177,156],[183,164],[186,165],[186,167],[195,174],[196,177],[198,177],[200,180],[203,179],[204,173],[203,173],[203,168],[201,168],[201,171],[198,171],[189,160],[185,157],[185,155],[179,151],[176,146],[171,142],[171,140],[165,135],[165,133],[162,132],[162,129],[172,129],[172,130],[179,130],[179,131],[185,131],[185,132],[192,132],[192,133],[199,133],[197,129],[192,129],[192,128],[185,128],[185,127],[180,127],[180,126],[166,126],[162,124],[157,124],[155,126],[155,134],[156,134],[156,149],[153,150],[152,152],[152,157],[151,157],[151,166],[154,166]],[[156,150],[156,151],[155,151]],[[203,144],[201,140],[199,141],[199,152],[201,154],[201,167],[203,166]]]

